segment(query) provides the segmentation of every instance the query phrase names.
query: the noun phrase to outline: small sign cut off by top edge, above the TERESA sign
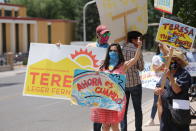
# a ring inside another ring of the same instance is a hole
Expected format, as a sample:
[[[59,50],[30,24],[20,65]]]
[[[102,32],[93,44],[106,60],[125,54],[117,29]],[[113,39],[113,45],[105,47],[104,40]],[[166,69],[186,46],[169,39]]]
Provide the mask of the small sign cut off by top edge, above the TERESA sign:
[[[154,7],[162,12],[172,14],[173,0],[154,0]]]

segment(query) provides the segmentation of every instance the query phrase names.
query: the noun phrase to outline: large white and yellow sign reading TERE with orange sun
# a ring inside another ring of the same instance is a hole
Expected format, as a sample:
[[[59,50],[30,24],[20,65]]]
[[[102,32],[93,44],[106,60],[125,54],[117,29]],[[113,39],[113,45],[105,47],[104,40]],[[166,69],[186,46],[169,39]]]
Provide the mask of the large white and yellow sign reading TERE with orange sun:
[[[70,98],[74,70],[96,70],[105,52],[102,48],[31,44],[23,95]]]

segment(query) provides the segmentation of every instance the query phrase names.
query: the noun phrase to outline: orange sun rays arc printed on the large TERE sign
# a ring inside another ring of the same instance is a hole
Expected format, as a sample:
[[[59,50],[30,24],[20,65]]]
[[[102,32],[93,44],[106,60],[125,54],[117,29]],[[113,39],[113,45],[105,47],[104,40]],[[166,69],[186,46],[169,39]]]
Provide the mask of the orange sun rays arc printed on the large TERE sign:
[[[95,68],[99,67],[99,65],[97,65],[98,60],[96,59],[96,55],[93,55],[92,51],[88,52],[87,49],[85,50],[80,49],[80,51],[76,50],[75,53],[71,54],[71,58],[75,59],[77,56],[80,56],[80,55],[89,56],[93,62],[93,67]]]

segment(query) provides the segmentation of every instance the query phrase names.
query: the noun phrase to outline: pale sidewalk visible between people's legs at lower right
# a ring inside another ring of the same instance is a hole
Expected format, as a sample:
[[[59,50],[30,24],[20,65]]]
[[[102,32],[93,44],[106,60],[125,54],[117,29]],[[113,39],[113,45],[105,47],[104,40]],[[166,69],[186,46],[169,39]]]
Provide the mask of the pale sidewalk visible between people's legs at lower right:
[[[155,126],[144,126],[147,121],[150,120],[150,113],[153,104],[153,99],[147,101],[145,104],[142,105],[143,111],[143,131],[159,131],[159,119],[158,115],[156,114],[155,117]],[[196,110],[196,101],[191,102],[191,106]],[[135,118],[134,118],[134,110],[130,110],[128,113],[128,131],[135,131]],[[190,131],[196,131],[196,119],[192,119]]]

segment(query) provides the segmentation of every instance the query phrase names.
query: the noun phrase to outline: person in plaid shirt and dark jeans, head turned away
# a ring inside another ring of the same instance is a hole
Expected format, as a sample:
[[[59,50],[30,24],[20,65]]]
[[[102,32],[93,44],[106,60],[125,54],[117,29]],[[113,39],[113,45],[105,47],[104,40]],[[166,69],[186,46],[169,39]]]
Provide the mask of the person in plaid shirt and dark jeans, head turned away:
[[[134,57],[136,50],[138,49],[138,40],[142,42],[142,34],[138,31],[130,31],[127,34],[127,43],[124,43],[122,47],[125,60],[129,60]],[[121,122],[121,131],[127,131],[127,111],[129,106],[129,98],[131,96],[134,111],[135,111],[135,129],[136,131],[142,131],[142,85],[139,76],[139,71],[144,69],[144,60],[142,52],[140,52],[140,58],[131,68],[126,72],[126,85],[125,94],[127,98],[126,110],[124,113],[124,119]]]

